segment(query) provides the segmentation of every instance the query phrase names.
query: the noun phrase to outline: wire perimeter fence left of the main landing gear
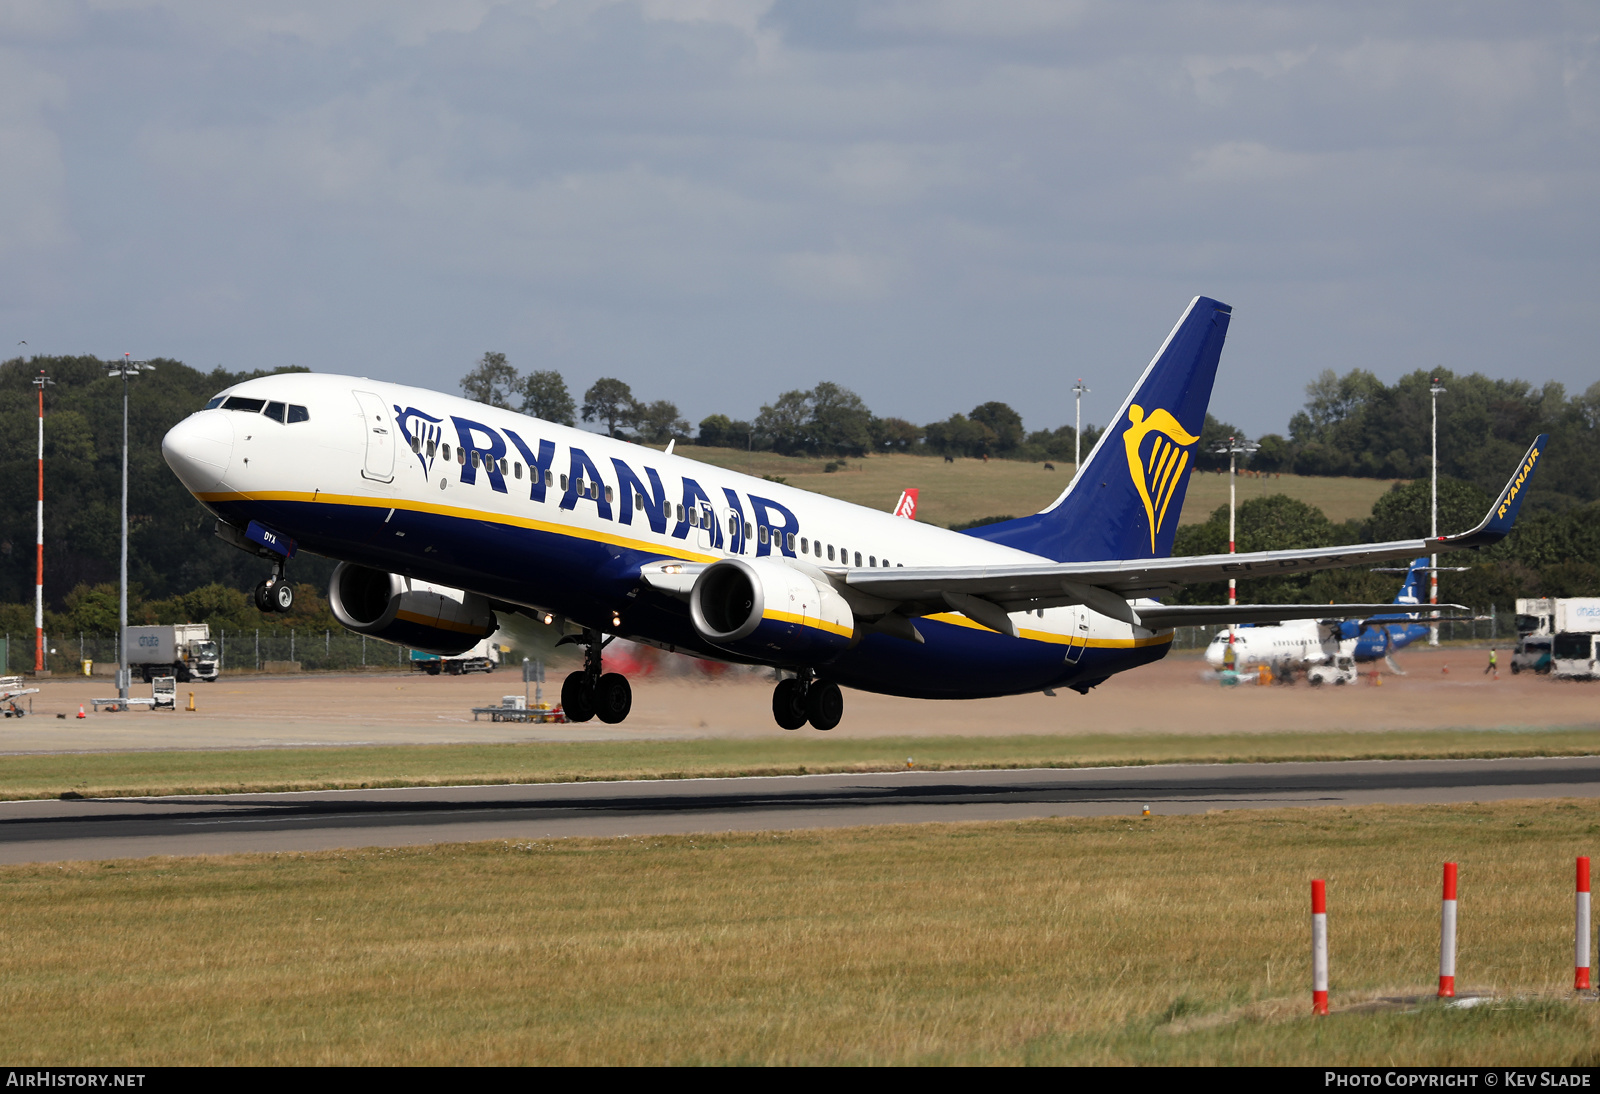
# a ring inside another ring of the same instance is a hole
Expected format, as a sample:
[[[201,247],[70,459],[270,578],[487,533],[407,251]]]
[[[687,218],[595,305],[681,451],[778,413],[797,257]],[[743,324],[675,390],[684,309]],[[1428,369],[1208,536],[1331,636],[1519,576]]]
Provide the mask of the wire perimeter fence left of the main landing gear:
[[[218,638],[221,672],[360,672],[410,667],[410,646],[354,635],[349,630],[224,630]],[[78,675],[91,662],[94,675],[109,675],[117,664],[115,635],[45,635],[46,664],[53,675]],[[6,673],[34,669],[34,635],[5,637]],[[291,669],[298,662],[298,669]]]

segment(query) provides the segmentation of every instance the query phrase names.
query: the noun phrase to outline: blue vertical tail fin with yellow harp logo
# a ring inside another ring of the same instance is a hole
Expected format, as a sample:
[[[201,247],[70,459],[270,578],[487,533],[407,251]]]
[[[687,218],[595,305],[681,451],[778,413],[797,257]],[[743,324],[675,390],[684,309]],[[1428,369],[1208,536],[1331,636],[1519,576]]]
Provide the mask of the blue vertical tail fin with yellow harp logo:
[[[1171,555],[1230,315],[1190,301],[1061,497],[968,534],[1054,561]]]

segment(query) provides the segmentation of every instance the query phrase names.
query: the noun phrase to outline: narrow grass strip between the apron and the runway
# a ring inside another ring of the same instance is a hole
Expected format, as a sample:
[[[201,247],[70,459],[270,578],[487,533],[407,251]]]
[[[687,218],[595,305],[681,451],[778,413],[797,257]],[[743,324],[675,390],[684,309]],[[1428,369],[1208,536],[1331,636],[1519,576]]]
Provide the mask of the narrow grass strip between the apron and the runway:
[[[6,757],[0,800],[486,785],[603,779],[1085,768],[1270,760],[1413,760],[1590,755],[1594,728],[1283,734],[696,739],[360,745]]]

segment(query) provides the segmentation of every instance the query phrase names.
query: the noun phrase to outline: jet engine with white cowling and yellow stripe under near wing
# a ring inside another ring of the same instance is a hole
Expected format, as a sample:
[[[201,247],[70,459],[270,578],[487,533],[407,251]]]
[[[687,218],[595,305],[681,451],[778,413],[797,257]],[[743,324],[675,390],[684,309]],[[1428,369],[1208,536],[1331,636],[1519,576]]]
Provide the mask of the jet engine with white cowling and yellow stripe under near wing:
[[[856,625],[832,585],[771,558],[707,566],[690,590],[690,617],[710,645],[782,665],[837,657]]]

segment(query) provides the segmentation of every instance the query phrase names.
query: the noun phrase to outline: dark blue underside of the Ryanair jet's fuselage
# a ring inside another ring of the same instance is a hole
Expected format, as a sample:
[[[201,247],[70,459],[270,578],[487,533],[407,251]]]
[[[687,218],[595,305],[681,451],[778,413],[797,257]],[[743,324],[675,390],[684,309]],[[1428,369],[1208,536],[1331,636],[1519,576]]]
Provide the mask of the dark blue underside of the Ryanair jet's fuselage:
[[[539,531],[405,509],[304,501],[213,502],[238,526],[258,520],[299,541],[304,550],[374,569],[453,585],[491,600],[538,606],[573,622],[613,630],[675,651],[758,664],[701,640],[683,601],[638,577],[645,563],[672,558],[576,534]],[[984,699],[1045,688],[1088,688],[1107,677],[1160,661],[1170,635],[1142,646],[1088,646],[1067,664],[1066,646],[1008,638],[987,629],[918,619],[925,643],[869,633],[821,667],[835,683],[918,699]]]

